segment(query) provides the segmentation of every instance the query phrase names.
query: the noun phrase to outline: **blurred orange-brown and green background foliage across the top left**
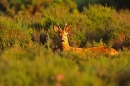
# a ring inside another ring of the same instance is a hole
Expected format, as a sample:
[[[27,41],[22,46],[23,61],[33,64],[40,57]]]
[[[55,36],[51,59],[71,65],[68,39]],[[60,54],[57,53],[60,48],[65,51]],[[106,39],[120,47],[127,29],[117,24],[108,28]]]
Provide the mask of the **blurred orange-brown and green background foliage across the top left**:
[[[3,0],[0,1],[2,13],[8,15],[25,14],[41,15],[41,10],[49,5],[59,4],[70,6],[71,11],[75,11],[76,3],[73,0]]]

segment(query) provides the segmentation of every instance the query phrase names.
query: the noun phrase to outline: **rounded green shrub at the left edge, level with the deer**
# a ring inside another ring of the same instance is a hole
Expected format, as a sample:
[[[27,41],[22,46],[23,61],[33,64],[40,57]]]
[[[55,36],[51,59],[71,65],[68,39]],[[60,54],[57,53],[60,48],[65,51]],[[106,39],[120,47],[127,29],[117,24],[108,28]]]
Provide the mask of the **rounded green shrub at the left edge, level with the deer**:
[[[0,49],[19,45],[25,47],[30,41],[30,31],[12,18],[0,16]]]

